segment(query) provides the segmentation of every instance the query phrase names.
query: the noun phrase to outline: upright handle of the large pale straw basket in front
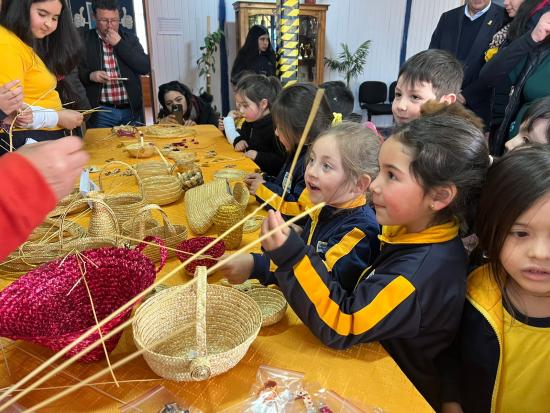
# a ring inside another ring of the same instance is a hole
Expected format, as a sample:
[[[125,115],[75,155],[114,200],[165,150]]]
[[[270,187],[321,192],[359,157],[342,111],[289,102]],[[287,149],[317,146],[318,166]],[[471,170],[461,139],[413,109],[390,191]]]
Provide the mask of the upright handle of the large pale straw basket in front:
[[[208,352],[206,347],[206,291],[208,288],[206,267],[197,267],[195,278],[197,279],[197,308],[196,308],[196,337],[197,357],[191,360],[189,371],[193,380],[206,380],[212,374]]]

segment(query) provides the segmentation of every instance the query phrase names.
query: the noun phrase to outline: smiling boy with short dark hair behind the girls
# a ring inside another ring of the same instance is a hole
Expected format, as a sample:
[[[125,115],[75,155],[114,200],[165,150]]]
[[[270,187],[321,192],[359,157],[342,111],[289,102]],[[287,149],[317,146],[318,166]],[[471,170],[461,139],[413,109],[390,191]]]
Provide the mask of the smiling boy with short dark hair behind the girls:
[[[449,52],[430,49],[417,53],[399,70],[392,112],[396,124],[420,117],[429,100],[454,103],[460,94],[464,70]]]

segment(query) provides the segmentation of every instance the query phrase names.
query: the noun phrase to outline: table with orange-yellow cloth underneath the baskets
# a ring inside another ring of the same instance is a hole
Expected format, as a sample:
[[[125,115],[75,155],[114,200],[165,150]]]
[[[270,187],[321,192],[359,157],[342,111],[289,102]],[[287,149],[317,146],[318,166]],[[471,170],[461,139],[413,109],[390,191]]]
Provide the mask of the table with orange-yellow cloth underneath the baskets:
[[[215,127],[197,126],[196,131],[196,140],[199,143],[189,145],[189,149],[198,153],[206,181],[211,180],[213,173],[225,165],[235,165],[236,168],[249,171],[255,169],[250,160],[233,151]],[[122,152],[122,148],[117,147],[121,140],[129,139],[116,138],[105,142],[104,138],[109,133],[106,129],[92,129],[86,134],[86,147],[91,154],[90,165],[101,167],[110,158],[136,163],[135,159],[128,158]],[[162,146],[177,140],[179,139],[158,139],[156,142]],[[204,155],[211,149],[216,150],[217,157],[205,158]],[[251,202],[249,210],[256,206],[255,202]],[[174,223],[185,224],[182,200],[163,209]],[[242,245],[255,239],[257,235],[258,233],[245,234]],[[161,274],[177,264],[179,261],[171,260]],[[221,276],[215,274],[210,281],[219,278]],[[170,284],[175,285],[186,280],[188,277],[182,272],[172,277]],[[0,280],[0,288],[7,284]],[[131,331],[126,329],[111,354],[111,362],[116,362],[134,349]],[[49,350],[24,342],[9,342],[3,352],[5,362],[0,362],[0,387],[15,383],[52,354]],[[291,309],[281,322],[263,328],[243,360],[225,374],[204,382],[171,382],[159,379],[143,358],[139,357],[115,371],[117,379],[121,381],[119,388],[114,384],[82,388],[41,411],[117,412],[120,402],[131,401],[152,387],[162,384],[203,411],[215,412],[247,397],[255,380],[256,370],[261,364],[305,372],[309,381],[318,382],[358,404],[379,406],[387,412],[433,411],[378,343],[362,344],[348,350],[330,349],[309,332]],[[68,386],[105,366],[105,361],[93,364],[76,363],[43,386]],[[106,375],[103,381],[110,382],[112,378]],[[24,397],[21,404],[30,407],[57,392],[57,389],[37,390]]]

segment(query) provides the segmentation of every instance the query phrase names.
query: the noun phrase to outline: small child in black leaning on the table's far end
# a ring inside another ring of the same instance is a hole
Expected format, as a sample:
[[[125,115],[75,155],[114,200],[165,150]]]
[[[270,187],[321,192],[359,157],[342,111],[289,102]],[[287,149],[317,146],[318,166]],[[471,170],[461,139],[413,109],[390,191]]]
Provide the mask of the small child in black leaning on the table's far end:
[[[275,136],[270,112],[280,91],[279,80],[264,75],[243,77],[235,90],[237,110],[245,122],[232,144],[236,151],[244,152],[269,175],[277,175],[285,162],[284,150]]]

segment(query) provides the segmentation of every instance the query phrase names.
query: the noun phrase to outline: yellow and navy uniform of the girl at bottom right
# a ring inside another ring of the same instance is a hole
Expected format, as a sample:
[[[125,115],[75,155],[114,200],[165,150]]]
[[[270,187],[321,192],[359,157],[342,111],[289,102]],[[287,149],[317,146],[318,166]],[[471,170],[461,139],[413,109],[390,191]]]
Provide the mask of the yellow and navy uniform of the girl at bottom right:
[[[547,412],[550,317],[528,318],[506,304],[487,265],[468,277],[466,299],[442,368],[443,401],[465,413]]]

